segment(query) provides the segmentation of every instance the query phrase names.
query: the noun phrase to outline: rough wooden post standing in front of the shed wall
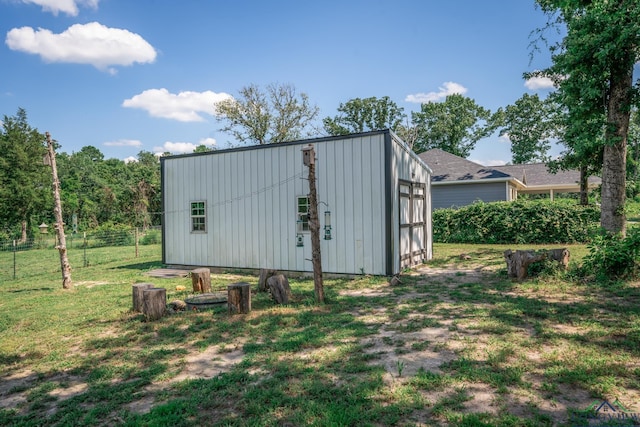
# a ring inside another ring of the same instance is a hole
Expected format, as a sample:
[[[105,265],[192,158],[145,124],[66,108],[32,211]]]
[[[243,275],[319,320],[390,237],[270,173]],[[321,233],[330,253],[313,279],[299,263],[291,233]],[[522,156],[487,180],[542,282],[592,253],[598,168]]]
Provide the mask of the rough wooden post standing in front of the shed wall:
[[[302,160],[309,168],[309,231],[311,232],[311,262],[316,301],[324,302],[322,255],[320,253],[320,221],[318,220],[318,192],[316,190],[316,152],[313,145],[302,148]]]

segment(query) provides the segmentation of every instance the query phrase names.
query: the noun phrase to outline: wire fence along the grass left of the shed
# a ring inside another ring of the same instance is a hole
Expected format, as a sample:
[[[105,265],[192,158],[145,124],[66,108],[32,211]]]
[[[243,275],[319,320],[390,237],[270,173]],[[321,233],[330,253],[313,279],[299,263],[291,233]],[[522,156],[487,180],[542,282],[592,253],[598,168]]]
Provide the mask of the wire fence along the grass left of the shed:
[[[65,235],[67,256],[73,269],[135,258],[161,258],[160,227]],[[55,234],[33,239],[0,241],[0,283],[41,275],[43,271],[60,273],[60,253]]]

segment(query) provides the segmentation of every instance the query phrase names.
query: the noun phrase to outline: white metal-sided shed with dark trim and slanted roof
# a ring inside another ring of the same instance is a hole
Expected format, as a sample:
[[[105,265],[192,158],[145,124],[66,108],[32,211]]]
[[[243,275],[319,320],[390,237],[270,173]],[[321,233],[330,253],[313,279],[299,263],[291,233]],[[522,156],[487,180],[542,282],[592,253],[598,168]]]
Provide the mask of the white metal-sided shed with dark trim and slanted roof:
[[[313,271],[315,150],[322,270],[394,275],[431,259],[431,173],[393,132],[161,158],[167,265]]]

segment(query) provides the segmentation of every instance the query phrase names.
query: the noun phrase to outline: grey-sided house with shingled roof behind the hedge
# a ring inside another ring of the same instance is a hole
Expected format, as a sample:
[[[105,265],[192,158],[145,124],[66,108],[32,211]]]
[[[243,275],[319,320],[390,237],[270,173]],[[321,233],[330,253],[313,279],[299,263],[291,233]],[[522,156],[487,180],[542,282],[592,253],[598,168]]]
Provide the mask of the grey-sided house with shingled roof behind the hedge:
[[[513,201],[519,194],[580,192],[578,171],[552,174],[545,164],[482,166],[440,149],[421,153],[431,168],[431,203],[433,209],[466,206],[476,201]],[[600,184],[590,177],[589,188]]]

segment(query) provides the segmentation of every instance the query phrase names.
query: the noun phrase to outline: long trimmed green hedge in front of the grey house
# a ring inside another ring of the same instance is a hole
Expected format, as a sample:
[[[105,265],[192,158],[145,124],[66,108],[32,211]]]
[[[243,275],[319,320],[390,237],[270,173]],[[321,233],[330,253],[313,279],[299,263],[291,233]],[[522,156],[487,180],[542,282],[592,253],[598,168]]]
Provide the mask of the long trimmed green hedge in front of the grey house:
[[[440,243],[587,242],[600,212],[570,201],[478,202],[433,212],[433,240]]]

